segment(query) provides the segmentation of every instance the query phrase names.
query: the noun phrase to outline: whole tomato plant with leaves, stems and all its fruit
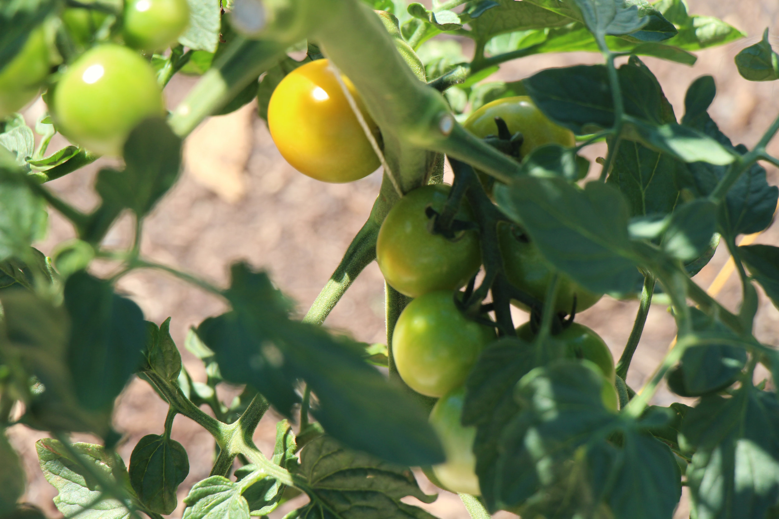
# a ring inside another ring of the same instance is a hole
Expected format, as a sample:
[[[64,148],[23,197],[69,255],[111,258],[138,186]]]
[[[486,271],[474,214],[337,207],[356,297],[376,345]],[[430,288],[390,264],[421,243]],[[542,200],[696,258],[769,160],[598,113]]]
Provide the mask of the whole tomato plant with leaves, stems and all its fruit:
[[[749,147],[734,144],[711,115],[711,76],[687,87],[679,117],[652,72],[745,35],[683,0],[429,8],[0,2],[0,516],[43,517],[19,503],[26,463],[6,438],[12,426],[51,436],[36,451],[66,517],[160,519],[187,493],[183,517],[249,519],[305,493],[287,517],[430,519],[404,499],[435,500],[413,467],[431,468],[479,519],[671,519],[682,486],[691,517],[776,516],[779,352],[760,341],[758,309],[765,298],[779,306],[779,247],[741,237],[774,219],[779,189],[765,166],[779,166],[779,117]],[[508,61],[572,51],[602,63],[490,80]],[[766,30],[734,70],[774,81],[777,62]],[[179,72],[199,78],[166,112],[161,90]],[[48,112],[33,132],[31,112],[13,110],[41,89]],[[302,319],[249,263],[217,286],[143,246],[186,136],[254,100],[301,173],[347,182],[382,167],[368,219]],[[73,145],[50,151],[57,132]],[[594,167],[582,150],[597,143]],[[49,184],[89,175],[100,154],[122,160],[97,172],[92,209]],[[44,253],[52,212],[72,236]],[[108,240],[128,218],[132,241]],[[717,247],[741,290],[726,305],[693,279]],[[386,344],[368,345],[323,323],[374,260]],[[117,289],[138,269],[224,309],[186,340],[205,382],[171,337],[182,323],[146,321]],[[612,325],[601,297],[636,308],[616,366],[576,321],[590,307],[602,313],[596,328]],[[515,328],[513,303],[530,328]],[[639,382],[631,366],[653,304],[670,310],[676,338]],[[168,412],[125,460],[112,416],[136,376]],[[697,400],[652,405],[664,381]],[[220,384],[240,388],[229,405]],[[252,437],[270,407],[283,419],[268,456]],[[208,477],[189,488],[195,453],[171,438],[178,415],[215,445]]]

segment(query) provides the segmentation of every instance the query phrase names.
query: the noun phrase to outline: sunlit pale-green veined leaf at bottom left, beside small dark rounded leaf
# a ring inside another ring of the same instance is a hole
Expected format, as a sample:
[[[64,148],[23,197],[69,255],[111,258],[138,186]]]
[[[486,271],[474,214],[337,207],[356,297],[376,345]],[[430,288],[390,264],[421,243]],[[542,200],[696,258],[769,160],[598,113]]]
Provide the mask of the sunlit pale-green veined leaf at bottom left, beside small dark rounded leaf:
[[[111,479],[125,491],[129,499],[134,498],[127,469],[118,454],[109,453],[100,445],[72,444],[83,461],[90,463],[104,479]],[[73,459],[58,440],[44,438],[35,442],[35,450],[46,481],[58,490],[54,498],[57,510],[65,517],[79,514],[83,519],[127,519],[130,511],[125,504],[111,496],[104,496],[99,503],[100,485],[83,466]],[[117,480],[118,479],[118,480]],[[134,500],[134,499],[133,499]]]

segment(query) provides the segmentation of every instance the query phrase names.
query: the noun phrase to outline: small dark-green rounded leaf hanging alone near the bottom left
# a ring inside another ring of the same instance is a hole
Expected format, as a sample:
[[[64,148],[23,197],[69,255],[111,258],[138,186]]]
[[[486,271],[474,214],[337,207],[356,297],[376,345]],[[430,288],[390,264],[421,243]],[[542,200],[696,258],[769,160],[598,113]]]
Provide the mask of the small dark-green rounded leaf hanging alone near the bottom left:
[[[140,502],[158,514],[170,514],[176,509],[176,490],[188,474],[187,451],[168,437],[147,434],[130,454],[132,488]]]

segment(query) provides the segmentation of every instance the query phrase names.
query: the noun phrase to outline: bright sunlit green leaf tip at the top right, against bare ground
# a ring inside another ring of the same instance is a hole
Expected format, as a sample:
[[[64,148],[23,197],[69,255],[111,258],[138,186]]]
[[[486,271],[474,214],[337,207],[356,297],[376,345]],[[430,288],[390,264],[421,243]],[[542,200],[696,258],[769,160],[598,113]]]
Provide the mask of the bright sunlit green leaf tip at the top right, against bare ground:
[[[745,36],[740,30],[713,16],[689,16],[686,0],[660,0],[655,2],[654,7],[679,29],[679,34],[664,43],[686,51],[700,51]]]

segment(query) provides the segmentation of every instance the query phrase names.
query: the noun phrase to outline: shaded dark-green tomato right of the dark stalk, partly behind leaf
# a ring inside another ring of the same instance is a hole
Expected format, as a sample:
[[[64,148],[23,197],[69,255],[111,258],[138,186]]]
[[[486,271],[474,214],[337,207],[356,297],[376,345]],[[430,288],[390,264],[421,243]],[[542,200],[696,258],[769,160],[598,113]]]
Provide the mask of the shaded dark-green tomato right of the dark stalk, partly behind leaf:
[[[554,267],[546,261],[527,235],[520,235],[514,226],[500,226],[499,243],[506,278],[513,286],[543,303],[547,286],[555,273]],[[576,296],[576,312],[581,312],[597,303],[603,294],[592,293],[560,273],[555,312],[570,314],[573,309],[573,296]],[[512,301],[512,303],[524,310],[529,310],[519,301]]]

